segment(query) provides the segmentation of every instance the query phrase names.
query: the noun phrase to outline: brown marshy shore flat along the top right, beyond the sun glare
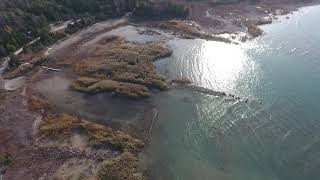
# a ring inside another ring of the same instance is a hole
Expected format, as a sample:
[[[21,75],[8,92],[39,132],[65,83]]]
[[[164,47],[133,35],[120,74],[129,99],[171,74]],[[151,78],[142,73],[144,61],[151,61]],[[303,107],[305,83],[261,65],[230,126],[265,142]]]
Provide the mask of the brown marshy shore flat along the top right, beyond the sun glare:
[[[320,2],[291,2],[289,4],[280,2],[273,5],[272,2],[214,4],[203,1],[188,5],[191,12],[185,19],[153,21],[140,19],[136,23],[141,26],[173,32],[173,35],[181,39],[199,38],[238,44],[263,35],[264,32],[260,26],[274,23],[283,16],[288,17],[301,8],[316,5],[320,5]],[[216,12],[214,17],[210,17],[211,15],[208,14],[210,11]],[[212,24],[213,22],[215,23]]]

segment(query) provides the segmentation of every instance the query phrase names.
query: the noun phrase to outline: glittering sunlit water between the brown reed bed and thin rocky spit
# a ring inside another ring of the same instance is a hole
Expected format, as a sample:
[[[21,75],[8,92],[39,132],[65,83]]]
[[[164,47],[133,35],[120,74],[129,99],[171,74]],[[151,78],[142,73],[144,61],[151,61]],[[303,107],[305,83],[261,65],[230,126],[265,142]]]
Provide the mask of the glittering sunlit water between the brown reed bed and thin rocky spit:
[[[204,40],[174,39],[168,42],[174,49],[173,56],[156,65],[169,78],[187,77],[194,84],[242,97],[254,98],[257,82],[267,80],[261,67],[250,56],[256,42],[242,45]],[[266,51],[260,46],[261,51]],[[257,87],[259,88],[259,87]]]

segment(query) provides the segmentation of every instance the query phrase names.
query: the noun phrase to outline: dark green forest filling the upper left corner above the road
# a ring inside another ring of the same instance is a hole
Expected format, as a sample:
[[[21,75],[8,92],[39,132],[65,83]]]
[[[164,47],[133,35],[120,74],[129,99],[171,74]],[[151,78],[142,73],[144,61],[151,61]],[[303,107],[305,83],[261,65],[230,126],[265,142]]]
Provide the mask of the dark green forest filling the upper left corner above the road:
[[[51,22],[113,18],[133,8],[136,1],[141,0],[1,0],[0,57],[40,36],[51,41]]]

